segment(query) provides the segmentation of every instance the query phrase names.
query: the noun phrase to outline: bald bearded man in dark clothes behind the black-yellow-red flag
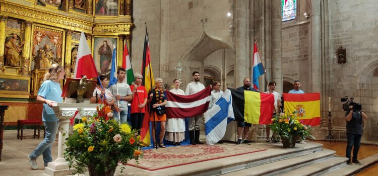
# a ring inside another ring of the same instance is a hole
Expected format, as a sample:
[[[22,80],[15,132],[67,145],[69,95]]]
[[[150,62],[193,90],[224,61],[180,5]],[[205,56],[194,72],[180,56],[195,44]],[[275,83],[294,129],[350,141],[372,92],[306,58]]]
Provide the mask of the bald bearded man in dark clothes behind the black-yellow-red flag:
[[[249,77],[244,77],[243,84],[244,85],[241,86],[241,87],[238,87],[237,90],[258,92],[255,89],[253,89],[253,87],[250,86]],[[249,127],[251,127],[252,124],[244,122],[244,117],[242,117],[240,119],[243,119],[243,121],[237,121],[237,142],[236,142],[236,145],[240,145],[241,142],[244,142],[245,144],[250,145],[250,143],[248,141],[248,133],[249,133]],[[242,141],[242,133],[244,133],[244,141]]]

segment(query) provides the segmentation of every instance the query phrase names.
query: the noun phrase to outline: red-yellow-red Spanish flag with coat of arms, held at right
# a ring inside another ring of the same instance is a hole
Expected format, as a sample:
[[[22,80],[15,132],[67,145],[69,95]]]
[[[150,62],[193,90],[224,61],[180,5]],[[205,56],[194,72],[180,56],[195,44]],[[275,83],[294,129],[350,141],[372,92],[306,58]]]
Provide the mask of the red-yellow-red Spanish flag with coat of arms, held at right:
[[[283,94],[285,113],[296,112],[305,125],[320,124],[320,94]]]

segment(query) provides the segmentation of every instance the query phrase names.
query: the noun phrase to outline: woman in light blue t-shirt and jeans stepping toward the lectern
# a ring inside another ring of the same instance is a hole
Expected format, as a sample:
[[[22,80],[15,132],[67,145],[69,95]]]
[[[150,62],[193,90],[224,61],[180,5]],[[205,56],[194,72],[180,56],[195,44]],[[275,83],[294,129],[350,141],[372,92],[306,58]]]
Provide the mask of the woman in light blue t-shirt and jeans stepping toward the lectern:
[[[46,137],[29,154],[29,165],[32,169],[38,169],[37,157],[43,155],[44,166],[52,161],[51,144],[55,141],[56,132],[59,126],[59,119],[52,110],[53,103],[61,103],[62,98],[60,80],[66,75],[65,69],[59,64],[52,64],[44,76],[44,81],[39,88],[37,101],[43,102],[42,122],[45,126]]]

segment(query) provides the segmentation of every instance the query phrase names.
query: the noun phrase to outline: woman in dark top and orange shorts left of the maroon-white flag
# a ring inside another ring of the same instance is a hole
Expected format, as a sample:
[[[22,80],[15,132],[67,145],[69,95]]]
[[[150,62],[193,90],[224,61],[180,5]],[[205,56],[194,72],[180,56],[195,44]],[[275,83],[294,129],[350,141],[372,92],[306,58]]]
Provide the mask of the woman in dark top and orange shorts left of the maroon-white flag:
[[[158,145],[161,148],[165,148],[165,145],[163,144],[164,134],[165,134],[165,121],[167,121],[166,115],[165,115],[165,105],[167,104],[167,96],[165,94],[165,91],[163,90],[163,79],[156,78],[155,79],[155,89],[151,90],[149,92],[149,100],[150,103],[150,113],[154,113],[153,115],[150,115],[150,121],[151,122],[160,122],[160,143],[156,143],[155,139],[155,128],[152,128],[152,135],[154,140],[154,146]]]

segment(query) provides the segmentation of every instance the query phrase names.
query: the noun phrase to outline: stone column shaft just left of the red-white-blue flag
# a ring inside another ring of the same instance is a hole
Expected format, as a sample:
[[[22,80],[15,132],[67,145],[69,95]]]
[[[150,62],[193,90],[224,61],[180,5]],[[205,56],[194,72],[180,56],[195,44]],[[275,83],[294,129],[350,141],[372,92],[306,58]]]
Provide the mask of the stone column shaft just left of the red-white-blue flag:
[[[249,1],[240,0],[234,1],[235,6],[235,62],[234,62],[234,77],[235,87],[243,85],[243,78],[245,76],[250,77],[248,68],[250,68],[250,62],[248,61],[250,56],[249,51],[249,35],[247,33],[247,7],[249,7]]]

